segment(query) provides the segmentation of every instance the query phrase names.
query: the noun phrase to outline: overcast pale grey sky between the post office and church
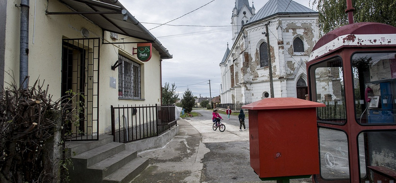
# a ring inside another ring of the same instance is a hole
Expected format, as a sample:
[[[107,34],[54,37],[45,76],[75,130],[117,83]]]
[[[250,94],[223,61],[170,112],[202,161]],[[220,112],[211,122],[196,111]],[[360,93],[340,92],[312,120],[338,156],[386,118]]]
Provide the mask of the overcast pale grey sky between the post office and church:
[[[209,97],[210,91],[212,97],[220,95],[219,63],[227,43],[232,47],[231,15],[235,0],[119,1],[173,55],[172,59],[162,61],[162,86],[175,83],[179,98],[187,88],[198,97]],[[267,1],[253,0],[256,12]],[[309,0],[294,1],[312,8]],[[169,22],[173,19],[176,20]],[[169,23],[157,27],[166,22]]]

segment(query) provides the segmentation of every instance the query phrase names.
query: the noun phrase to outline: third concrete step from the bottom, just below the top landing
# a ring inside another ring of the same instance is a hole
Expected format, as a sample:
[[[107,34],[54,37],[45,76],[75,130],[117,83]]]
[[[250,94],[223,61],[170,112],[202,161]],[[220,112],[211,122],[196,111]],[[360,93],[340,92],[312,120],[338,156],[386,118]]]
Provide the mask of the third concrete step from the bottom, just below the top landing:
[[[111,142],[73,156],[72,159],[73,161],[79,161],[81,164],[89,167],[123,150],[125,150],[125,144]]]

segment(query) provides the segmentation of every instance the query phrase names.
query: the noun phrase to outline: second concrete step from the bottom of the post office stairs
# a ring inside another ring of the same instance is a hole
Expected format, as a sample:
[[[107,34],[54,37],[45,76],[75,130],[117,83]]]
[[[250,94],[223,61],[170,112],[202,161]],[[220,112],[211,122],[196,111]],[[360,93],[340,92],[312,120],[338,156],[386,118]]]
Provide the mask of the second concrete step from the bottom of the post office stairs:
[[[123,167],[128,162],[132,161],[137,157],[137,152],[132,152],[128,150],[123,150],[113,156],[110,156],[95,165],[88,167],[88,171],[93,170],[94,172],[98,172],[101,179],[115,172],[119,168]]]

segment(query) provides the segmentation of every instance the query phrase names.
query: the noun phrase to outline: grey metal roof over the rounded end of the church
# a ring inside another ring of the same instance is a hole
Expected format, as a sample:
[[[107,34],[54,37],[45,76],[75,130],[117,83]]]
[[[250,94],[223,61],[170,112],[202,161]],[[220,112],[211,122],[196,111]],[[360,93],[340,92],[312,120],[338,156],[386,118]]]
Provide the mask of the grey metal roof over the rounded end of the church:
[[[269,0],[265,5],[251,17],[249,23],[270,17],[275,14],[303,14],[317,13],[293,0]]]

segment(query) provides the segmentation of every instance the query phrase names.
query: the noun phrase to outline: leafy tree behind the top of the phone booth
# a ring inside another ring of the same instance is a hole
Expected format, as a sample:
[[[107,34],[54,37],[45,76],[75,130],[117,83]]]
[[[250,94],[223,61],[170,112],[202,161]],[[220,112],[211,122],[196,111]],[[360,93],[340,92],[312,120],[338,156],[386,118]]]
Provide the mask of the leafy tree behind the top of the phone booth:
[[[346,0],[311,0],[317,4],[319,27],[326,34],[348,24]],[[352,0],[354,22],[379,22],[396,27],[395,0]]]

